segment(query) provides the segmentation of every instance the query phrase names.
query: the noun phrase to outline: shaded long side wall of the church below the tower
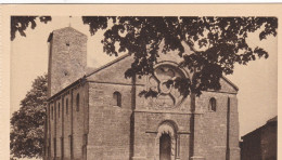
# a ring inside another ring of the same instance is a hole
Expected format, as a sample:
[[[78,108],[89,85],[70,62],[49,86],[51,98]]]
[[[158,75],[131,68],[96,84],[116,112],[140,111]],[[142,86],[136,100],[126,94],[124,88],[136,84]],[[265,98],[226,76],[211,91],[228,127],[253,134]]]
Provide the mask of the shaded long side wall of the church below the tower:
[[[86,156],[82,152],[86,146],[84,138],[87,137],[85,125],[88,117],[87,109],[88,84],[84,82],[50,99],[47,118],[47,159],[80,160]]]

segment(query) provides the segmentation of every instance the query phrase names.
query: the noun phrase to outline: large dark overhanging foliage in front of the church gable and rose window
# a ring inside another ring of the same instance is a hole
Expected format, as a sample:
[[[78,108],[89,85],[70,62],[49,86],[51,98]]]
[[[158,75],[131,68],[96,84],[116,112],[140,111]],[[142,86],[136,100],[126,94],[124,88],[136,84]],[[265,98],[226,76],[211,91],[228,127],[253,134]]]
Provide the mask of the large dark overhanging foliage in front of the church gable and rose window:
[[[236,63],[246,65],[267,58],[264,49],[251,48],[246,39],[249,32],[260,29],[260,40],[277,36],[278,28],[275,17],[84,16],[82,21],[92,35],[106,29],[101,42],[107,54],[133,55],[134,62],[125,74],[129,78],[152,74],[159,54],[177,51],[176,56],[183,59],[180,67],[188,68],[190,76],[167,84],[178,88],[184,96],[219,90],[219,79],[232,74]],[[183,43],[191,50],[189,54]],[[143,94],[155,95],[151,91]]]

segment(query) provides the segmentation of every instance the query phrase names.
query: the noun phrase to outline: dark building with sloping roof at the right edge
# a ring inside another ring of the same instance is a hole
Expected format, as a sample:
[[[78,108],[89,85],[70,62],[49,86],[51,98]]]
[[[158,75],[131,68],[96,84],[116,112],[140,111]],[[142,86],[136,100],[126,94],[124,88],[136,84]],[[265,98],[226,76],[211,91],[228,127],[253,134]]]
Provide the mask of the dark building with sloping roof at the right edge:
[[[277,118],[242,136],[241,160],[277,160]]]

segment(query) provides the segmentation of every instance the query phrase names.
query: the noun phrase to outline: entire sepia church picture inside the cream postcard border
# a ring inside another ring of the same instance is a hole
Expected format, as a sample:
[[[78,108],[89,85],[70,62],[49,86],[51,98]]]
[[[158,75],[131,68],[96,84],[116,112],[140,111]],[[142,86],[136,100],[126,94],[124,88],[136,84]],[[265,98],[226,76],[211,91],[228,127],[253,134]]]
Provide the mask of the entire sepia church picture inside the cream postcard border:
[[[10,160],[278,159],[279,17],[148,6],[9,15]]]

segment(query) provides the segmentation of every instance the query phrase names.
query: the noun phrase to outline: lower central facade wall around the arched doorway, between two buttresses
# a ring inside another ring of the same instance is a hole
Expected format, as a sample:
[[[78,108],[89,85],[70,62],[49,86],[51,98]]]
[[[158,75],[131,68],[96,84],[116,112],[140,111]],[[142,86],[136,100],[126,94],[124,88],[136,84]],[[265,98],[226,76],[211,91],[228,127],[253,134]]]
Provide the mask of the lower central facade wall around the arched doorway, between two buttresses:
[[[187,114],[134,111],[133,159],[159,159],[159,137],[157,134],[159,134],[158,129],[163,123],[169,123],[175,129],[174,158],[188,159],[190,154],[189,120],[190,115]]]

